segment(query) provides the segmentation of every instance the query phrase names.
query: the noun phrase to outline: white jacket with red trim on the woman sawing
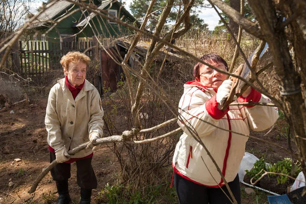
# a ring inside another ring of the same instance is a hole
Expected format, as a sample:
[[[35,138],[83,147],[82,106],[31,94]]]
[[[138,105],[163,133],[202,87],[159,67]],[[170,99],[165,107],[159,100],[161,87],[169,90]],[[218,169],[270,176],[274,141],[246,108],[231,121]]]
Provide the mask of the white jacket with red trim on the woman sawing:
[[[197,133],[221,169],[225,180],[232,182],[237,176],[248,137],[221,129],[244,135],[249,135],[249,129],[266,130],[277,120],[277,108],[230,106],[226,111],[221,111],[217,108],[214,89],[203,87],[197,81],[187,82],[184,88],[179,113],[185,124],[178,121],[184,133],[175,148],[172,161],[174,172],[194,183],[218,188],[224,185],[223,180],[206,150],[192,137],[189,130]],[[269,98],[254,89],[246,98],[238,98],[239,102],[250,100],[270,102]]]

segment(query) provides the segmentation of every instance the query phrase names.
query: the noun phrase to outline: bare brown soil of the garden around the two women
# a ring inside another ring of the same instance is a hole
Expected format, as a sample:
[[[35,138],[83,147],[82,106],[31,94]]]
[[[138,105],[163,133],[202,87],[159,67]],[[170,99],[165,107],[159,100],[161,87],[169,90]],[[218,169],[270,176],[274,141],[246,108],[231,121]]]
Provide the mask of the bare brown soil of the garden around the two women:
[[[50,173],[44,177],[35,193],[28,193],[37,175],[49,164],[44,126],[46,104],[47,98],[44,97],[31,105],[22,103],[0,110],[0,203],[56,202],[57,190]],[[251,133],[251,135],[287,148],[287,139],[282,134],[284,126],[285,123],[281,120],[266,136],[264,136],[265,133]],[[110,148],[111,146],[104,145],[95,152],[92,163],[98,188],[93,191],[92,203],[101,201],[98,192],[107,183],[114,184],[116,175],[120,171],[117,159]],[[246,150],[270,162],[290,157],[286,151],[254,139],[249,139]],[[21,159],[21,161],[14,162],[14,159]],[[75,164],[71,167],[69,192],[73,203],[79,203],[80,189],[76,181]],[[243,185],[242,188],[244,188]],[[254,196],[243,196],[242,203],[256,203],[256,201]]]

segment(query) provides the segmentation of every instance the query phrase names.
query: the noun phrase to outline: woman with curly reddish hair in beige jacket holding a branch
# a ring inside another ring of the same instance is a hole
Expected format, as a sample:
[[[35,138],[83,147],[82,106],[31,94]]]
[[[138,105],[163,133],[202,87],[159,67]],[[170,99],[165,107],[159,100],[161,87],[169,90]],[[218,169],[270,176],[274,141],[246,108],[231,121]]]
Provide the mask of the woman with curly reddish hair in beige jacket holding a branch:
[[[103,136],[103,109],[96,88],[87,80],[90,58],[80,52],[69,52],[61,59],[65,78],[52,87],[48,97],[45,125],[48,132],[50,162],[59,164],[51,170],[59,193],[57,203],[71,201],[68,192],[70,164],[77,164],[77,182],[81,187],[81,203],[90,203],[97,180],[91,166],[93,150],[75,155],[67,151]]]

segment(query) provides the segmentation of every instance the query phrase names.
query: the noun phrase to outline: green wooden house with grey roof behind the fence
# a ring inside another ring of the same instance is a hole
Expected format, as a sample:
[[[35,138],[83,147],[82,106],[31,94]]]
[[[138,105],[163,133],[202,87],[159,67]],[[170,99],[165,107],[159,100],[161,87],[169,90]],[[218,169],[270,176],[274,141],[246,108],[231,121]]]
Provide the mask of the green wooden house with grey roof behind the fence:
[[[139,26],[139,22],[118,1],[91,0],[82,1],[82,4],[89,4],[94,6],[97,12],[104,10],[107,12],[101,13],[109,17],[115,16],[124,22]],[[40,22],[33,25],[39,33],[36,40],[56,43],[75,42],[80,46],[79,48],[82,48],[84,44],[89,47],[93,36],[107,45],[111,39],[129,35],[132,32],[112,20],[66,0],[47,4],[38,20]]]

